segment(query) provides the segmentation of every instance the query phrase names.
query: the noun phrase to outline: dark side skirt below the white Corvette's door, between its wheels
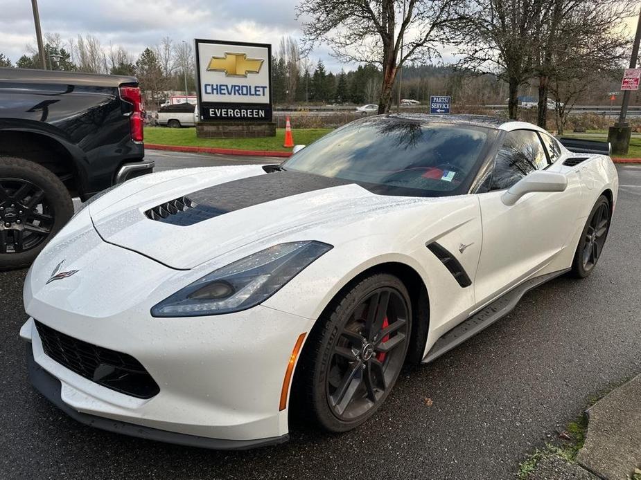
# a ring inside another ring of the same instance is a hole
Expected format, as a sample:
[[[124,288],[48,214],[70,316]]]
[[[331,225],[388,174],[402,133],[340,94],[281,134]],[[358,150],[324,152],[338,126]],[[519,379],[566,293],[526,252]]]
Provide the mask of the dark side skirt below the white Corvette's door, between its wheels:
[[[563,275],[563,273],[568,272],[568,270],[570,269],[567,268],[565,270],[548,273],[547,275],[541,275],[540,277],[534,277],[524,281],[523,284],[512,288],[507,293],[504,293],[491,304],[482,308],[480,311],[477,311],[477,313],[469,317],[467,320],[459,323],[453,329],[441,336],[432,349],[430,349],[428,355],[425,356],[423,362],[428,363],[432,362],[432,360],[436,360],[444,353],[450,351],[454,347],[457,347],[459,344],[462,344],[465,340],[468,340],[468,338],[486,329],[501,317],[510,313],[518,304],[521,297],[523,297],[523,295],[525,295],[529,290],[532,290],[532,288],[536,288],[541,284],[545,284],[546,281],[559,277],[559,275]]]

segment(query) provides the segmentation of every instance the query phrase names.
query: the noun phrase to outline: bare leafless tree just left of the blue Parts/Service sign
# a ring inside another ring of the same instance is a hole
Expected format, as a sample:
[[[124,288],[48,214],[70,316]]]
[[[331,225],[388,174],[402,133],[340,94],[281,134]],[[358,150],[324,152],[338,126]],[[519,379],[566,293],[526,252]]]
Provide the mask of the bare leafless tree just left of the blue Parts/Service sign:
[[[301,0],[306,50],[324,41],[344,62],[383,67],[378,113],[389,111],[396,72],[407,62],[439,57],[459,0]],[[405,11],[403,11],[405,10]],[[401,53],[401,45],[403,52]]]

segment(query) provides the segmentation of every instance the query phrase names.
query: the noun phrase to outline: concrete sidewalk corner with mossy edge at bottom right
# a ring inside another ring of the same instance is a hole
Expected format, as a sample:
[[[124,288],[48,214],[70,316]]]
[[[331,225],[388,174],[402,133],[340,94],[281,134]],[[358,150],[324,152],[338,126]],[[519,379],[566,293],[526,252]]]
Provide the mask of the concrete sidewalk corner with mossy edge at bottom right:
[[[641,375],[611,391],[586,414],[588,432],[577,463],[548,456],[528,480],[641,479],[635,470],[641,467]]]

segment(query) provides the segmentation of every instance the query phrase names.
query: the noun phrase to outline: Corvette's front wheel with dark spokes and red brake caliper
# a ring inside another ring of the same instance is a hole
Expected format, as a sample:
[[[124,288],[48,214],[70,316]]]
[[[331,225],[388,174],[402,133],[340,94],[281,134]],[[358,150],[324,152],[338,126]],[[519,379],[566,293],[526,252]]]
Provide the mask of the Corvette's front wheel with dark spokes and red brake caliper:
[[[301,353],[295,408],[330,432],[346,432],[373,416],[405,362],[411,305],[403,282],[393,275],[374,274],[344,289]],[[370,309],[375,313],[369,315]]]

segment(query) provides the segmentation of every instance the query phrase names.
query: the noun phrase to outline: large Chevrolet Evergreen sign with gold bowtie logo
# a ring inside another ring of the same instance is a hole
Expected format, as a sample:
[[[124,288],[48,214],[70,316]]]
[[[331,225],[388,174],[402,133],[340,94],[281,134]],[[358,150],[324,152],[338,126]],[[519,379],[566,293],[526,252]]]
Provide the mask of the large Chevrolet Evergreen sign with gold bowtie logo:
[[[195,39],[200,119],[272,121],[272,46]]]

